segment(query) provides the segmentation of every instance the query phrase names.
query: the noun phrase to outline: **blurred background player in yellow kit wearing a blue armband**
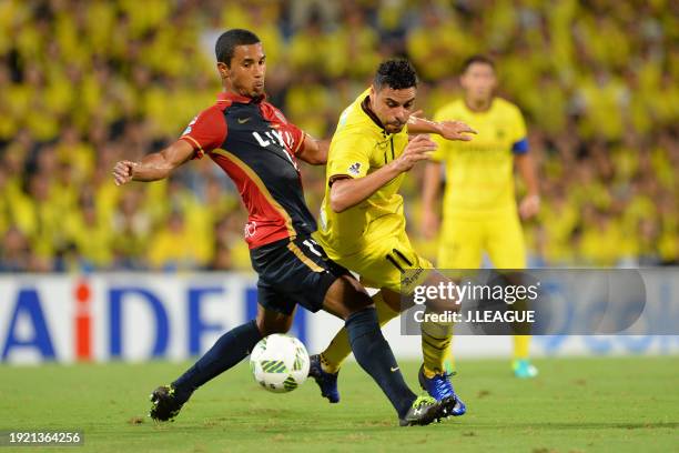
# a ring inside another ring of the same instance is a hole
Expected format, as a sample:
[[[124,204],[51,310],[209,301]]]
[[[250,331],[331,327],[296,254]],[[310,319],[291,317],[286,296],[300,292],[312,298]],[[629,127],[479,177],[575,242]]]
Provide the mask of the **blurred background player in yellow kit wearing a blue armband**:
[[[424,233],[439,233],[439,269],[478,269],[483,252],[498,269],[525,269],[526,250],[519,214],[528,219],[540,207],[538,182],[519,109],[495,97],[493,61],[483,56],[463,66],[465,98],[438,110],[434,119],[459,119],[478,131],[473,143],[436,140],[438,149],[425,170]],[[435,203],[445,165],[445,194],[440,229]],[[527,188],[518,212],[514,194],[514,165]],[[528,360],[530,336],[514,338],[514,373],[533,378]]]

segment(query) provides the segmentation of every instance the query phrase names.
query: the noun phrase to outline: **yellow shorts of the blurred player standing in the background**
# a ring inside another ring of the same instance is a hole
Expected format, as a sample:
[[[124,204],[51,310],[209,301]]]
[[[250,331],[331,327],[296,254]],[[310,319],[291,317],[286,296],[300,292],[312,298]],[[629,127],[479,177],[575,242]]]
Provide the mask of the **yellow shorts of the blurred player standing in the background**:
[[[444,219],[439,269],[478,269],[486,252],[497,269],[525,269],[526,245],[516,209],[488,215],[459,214]]]

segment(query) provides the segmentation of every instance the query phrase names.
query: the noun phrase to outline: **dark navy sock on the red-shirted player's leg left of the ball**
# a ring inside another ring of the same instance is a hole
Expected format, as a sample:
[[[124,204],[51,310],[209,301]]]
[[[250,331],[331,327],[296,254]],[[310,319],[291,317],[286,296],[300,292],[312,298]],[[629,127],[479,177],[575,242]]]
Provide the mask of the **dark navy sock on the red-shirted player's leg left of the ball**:
[[[254,320],[220,336],[210,351],[172,383],[176,397],[189,400],[195,389],[245,359],[260,340],[262,334]]]

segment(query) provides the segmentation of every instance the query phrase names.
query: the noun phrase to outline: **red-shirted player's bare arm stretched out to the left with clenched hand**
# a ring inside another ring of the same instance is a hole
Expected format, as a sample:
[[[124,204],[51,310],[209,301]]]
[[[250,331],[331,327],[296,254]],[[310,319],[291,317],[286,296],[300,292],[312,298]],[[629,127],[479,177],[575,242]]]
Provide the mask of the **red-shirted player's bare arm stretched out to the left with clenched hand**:
[[[120,161],[113,167],[115,185],[168,178],[172,170],[190,160],[193,154],[193,145],[185,140],[178,140],[160,152],[145,155],[140,162]]]

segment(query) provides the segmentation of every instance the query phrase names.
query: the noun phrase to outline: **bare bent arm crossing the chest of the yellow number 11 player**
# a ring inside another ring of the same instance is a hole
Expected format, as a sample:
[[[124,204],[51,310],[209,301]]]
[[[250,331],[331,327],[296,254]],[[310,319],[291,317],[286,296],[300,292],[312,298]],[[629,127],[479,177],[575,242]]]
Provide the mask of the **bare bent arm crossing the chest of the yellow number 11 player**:
[[[420,160],[429,159],[429,153],[436,149],[436,143],[428,135],[417,135],[407,144],[403,154],[379,170],[363,178],[352,178],[348,174],[335,174],[330,178],[330,205],[335,212],[342,212],[367,200],[379,188],[394,178],[411,170]]]

